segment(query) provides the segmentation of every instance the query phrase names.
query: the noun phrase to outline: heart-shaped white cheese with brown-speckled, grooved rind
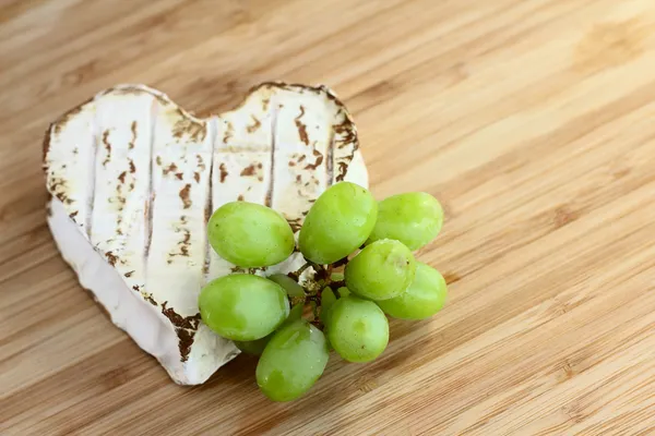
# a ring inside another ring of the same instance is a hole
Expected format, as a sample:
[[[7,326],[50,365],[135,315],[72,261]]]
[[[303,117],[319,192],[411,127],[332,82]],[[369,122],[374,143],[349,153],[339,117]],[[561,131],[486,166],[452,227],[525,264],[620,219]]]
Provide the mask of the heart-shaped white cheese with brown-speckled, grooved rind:
[[[198,294],[238,270],[211,250],[206,221],[237,199],[271,206],[296,230],[332,183],[368,185],[357,132],[325,87],[265,83],[198,119],[164,94],[120,85],[47,132],[48,223],[80,283],[179,384],[205,382],[235,346],[200,319]],[[287,272],[299,253],[258,274]]]

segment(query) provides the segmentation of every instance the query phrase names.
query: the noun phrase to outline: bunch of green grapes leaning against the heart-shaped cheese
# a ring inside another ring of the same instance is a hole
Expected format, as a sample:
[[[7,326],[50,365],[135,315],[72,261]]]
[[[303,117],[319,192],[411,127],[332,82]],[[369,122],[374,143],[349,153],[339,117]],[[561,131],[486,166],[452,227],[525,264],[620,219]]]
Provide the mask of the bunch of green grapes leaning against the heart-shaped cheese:
[[[211,281],[199,298],[202,320],[260,355],[255,376],[266,397],[294,400],[323,374],[331,349],[348,362],[372,361],[389,342],[386,315],[421,319],[443,306],[443,277],[413,254],[437,237],[442,221],[443,209],[429,194],[377,202],[357,184],[336,183],[315,201],[298,234],[306,264],[288,275]],[[246,202],[218,208],[207,234],[218,255],[243,268],[278,264],[296,249],[281,214]]]

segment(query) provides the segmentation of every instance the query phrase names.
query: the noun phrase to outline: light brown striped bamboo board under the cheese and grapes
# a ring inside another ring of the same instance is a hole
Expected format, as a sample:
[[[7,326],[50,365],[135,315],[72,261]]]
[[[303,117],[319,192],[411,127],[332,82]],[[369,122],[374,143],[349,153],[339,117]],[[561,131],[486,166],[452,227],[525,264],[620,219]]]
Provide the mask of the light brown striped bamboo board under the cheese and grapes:
[[[0,434],[655,434],[653,0],[2,0],[0,71]],[[343,98],[377,197],[441,199],[450,290],[285,404],[253,359],[180,387],[114,328],[39,168],[115,83],[206,114],[279,78]]]

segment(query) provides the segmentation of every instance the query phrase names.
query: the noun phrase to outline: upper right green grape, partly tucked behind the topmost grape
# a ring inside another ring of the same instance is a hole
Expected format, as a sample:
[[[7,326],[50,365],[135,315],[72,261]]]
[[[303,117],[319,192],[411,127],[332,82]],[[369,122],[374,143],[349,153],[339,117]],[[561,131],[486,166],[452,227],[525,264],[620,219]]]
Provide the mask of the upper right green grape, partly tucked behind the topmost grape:
[[[379,203],[378,220],[367,243],[395,239],[418,250],[439,234],[443,223],[441,204],[425,192],[393,195]]]

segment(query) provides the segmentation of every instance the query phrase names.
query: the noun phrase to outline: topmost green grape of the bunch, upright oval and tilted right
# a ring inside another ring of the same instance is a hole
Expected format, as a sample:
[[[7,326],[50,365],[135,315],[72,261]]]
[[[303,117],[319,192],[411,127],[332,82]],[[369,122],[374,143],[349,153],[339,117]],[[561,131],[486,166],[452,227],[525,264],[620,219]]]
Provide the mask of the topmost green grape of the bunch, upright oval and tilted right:
[[[370,235],[378,203],[366,189],[349,182],[336,183],[313,204],[300,229],[302,255],[317,264],[340,261]]]

